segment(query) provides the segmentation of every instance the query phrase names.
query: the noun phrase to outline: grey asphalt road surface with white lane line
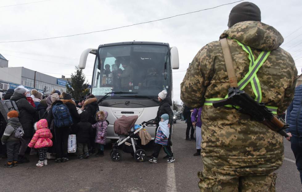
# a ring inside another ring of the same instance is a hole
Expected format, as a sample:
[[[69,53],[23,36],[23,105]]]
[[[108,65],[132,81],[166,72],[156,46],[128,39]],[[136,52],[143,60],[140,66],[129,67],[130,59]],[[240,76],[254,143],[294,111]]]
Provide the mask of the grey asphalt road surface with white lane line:
[[[166,163],[161,151],[158,163],[148,161],[138,163],[131,154],[122,153],[122,159],[110,159],[111,144],[105,147],[104,157],[91,156],[79,160],[71,158],[65,163],[48,161],[44,167],[36,167],[38,158],[30,156],[31,162],[13,168],[0,167],[0,189],[13,191],[199,191],[197,172],[202,170],[202,160],[194,157],[195,142],[185,140],[186,125],[178,120],[173,129],[173,153],[176,161]],[[294,160],[290,143],[284,141],[284,157]],[[152,145],[145,147],[147,154],[152,153]],[[5,159],[0,159],[4,164]],[[284,160],[276,171],[276,191],[301,191],[299,172],[295,163]],[[175,179],[174,179],[175,178]]]

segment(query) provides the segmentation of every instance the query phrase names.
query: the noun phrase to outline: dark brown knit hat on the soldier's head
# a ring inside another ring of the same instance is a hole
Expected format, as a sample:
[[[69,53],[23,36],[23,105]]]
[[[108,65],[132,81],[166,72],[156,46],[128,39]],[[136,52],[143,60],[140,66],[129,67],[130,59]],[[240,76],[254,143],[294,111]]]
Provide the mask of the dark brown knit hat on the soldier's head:
[[[261,12],[257,5],[251,2],[242,2],[233,7],[229,15],[228,27],[242,21],[261,21]]]

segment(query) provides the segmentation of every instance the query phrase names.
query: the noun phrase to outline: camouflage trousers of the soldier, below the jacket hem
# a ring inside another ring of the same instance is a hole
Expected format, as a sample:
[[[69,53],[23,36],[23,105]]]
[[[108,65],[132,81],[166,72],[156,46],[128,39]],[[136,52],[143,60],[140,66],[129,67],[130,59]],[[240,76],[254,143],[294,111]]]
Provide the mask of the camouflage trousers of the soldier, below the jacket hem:
[[[215,173],[205,167],[198,177],[202,192],[275,192],[277,174],[236,176]]]

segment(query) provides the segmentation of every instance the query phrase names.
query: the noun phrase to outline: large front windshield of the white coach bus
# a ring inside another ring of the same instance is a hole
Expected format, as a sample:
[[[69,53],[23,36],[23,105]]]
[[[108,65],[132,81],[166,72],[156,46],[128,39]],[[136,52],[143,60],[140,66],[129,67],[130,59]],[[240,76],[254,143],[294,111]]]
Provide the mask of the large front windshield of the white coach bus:
[[[100,47],[92,78],[92,94],[106,99],[157,99],[163,89],[170,90],[169,47],[166,45],[131,44]]]

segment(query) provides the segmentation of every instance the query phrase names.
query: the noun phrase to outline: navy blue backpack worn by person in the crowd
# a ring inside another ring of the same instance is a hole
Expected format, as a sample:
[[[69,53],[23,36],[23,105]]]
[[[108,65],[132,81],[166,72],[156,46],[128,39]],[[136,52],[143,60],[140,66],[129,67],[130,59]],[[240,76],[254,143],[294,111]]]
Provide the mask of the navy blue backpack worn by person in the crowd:
[[[52,107],[55,126],[58,128],[69,127],[72,124],[72,118],[66,105],[57,103]]]

